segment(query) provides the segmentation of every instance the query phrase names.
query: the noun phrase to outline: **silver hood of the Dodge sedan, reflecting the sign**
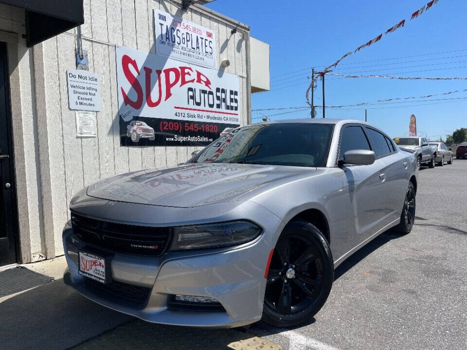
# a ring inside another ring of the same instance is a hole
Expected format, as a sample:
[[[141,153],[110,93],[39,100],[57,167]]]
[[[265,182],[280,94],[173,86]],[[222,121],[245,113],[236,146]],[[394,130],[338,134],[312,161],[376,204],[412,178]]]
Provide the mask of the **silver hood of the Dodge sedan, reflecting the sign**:
[[[257,164],[192,163],[109,177],[88,196],[111,201],[190,208],[233,201],[259,187],[309,177],[316,168]]]

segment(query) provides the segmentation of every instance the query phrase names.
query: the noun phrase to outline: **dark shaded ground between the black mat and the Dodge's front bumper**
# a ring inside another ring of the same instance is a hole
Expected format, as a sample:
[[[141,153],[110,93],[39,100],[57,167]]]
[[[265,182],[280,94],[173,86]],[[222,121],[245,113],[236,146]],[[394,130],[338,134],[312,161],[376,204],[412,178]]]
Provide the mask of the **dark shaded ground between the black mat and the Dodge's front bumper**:
[[[132,319],[82,297],[62,279],[6,299],[0,315],[5,350],[63,350]]]

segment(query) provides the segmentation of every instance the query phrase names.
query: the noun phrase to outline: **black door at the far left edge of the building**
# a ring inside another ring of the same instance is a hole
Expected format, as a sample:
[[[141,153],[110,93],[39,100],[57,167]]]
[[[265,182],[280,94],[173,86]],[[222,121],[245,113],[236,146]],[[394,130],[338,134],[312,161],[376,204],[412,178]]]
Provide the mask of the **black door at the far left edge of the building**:
[[[6,44],[0,42],[0,266],[17,262],[18,225],[8,76]]]

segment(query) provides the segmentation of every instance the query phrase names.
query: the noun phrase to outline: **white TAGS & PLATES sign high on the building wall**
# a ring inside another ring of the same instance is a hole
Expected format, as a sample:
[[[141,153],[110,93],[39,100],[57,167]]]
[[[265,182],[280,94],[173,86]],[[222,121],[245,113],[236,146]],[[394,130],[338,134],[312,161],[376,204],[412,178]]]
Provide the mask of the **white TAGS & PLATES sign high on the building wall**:
[[[156,54],[216,68],[216,33],[199,24],[154,9]]]

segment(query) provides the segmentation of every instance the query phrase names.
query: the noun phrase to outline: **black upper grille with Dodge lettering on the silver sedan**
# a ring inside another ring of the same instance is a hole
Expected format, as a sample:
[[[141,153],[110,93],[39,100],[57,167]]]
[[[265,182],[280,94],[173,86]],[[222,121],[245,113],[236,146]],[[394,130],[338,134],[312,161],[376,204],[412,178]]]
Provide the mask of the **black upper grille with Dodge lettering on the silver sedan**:
[[[160,256],[170,243],[170,227],[145,227],[90,219],[72,212],[73,233],[82,241],[113,252]]]

